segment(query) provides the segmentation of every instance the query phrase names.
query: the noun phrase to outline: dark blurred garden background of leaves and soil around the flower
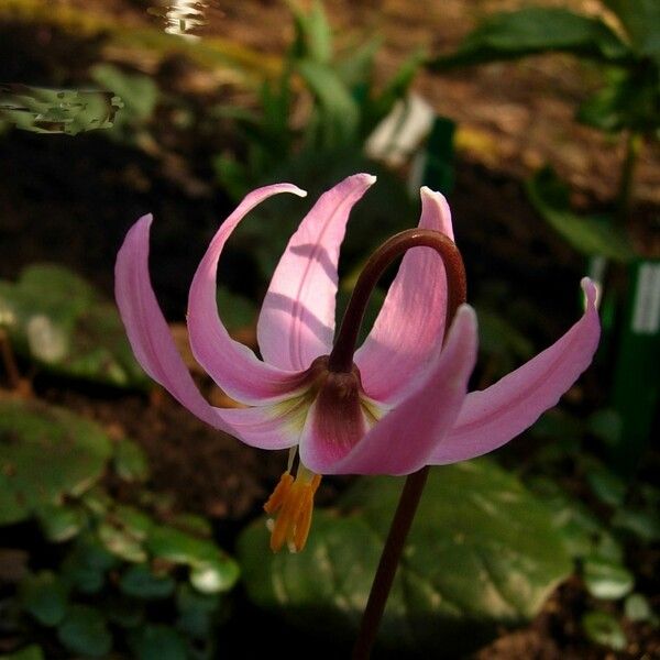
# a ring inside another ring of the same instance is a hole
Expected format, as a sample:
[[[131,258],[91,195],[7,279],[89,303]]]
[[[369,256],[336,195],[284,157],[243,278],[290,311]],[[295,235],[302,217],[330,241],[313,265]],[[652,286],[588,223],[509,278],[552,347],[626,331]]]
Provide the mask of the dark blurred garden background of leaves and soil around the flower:
[[[654,0],[0,0],[0,658],[346,657],[400,480],[324,479],[306,551],[272,556],[286,452],[157,388],[112,287],[153,212],[158,300],[231,405],[186,342],[209,239],[257,186],[309,193],[222,256],[222,318],[256,350],[290,234],[355,172],[378,183],[339,315],[427,185],[479,311],[473,388],[565,332],[584,275],[604,328],[558,408],[432,471],[375,657],[658,657],[659,135]]]

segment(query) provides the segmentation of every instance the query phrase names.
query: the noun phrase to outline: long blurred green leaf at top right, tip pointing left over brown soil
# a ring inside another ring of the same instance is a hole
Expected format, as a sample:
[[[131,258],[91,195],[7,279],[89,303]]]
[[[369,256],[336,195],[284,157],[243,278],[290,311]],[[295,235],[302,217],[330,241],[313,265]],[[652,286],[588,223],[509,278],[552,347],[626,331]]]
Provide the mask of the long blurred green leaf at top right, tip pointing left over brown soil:
[[[547,52],[608,62],[631,57],[628,46],[600,19],[565,9],[529,7],[486,19],[463,40],[455,53],[437,57],[430,66],[441,69]]]

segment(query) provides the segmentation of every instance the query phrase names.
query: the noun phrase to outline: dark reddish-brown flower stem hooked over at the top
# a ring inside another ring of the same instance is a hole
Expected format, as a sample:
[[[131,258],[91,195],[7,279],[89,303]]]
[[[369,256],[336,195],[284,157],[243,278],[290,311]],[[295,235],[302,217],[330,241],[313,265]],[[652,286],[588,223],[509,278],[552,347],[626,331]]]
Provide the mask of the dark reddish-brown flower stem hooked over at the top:
[[[444,319],[444,334],[447,337],[459,306],[465,302],[466,298],[463,258],[454,242],[443,233],[431,229],[409,229],[385,241],[366,262],[353,289],[353,295],[346,307],[332,352],[328,358],[328,369],[330,371],[350,372],[352,370],[358,333],[360,332],[360,326],[369,298],[385,268],[397,256],[402,256],[411,248],[431,248],[439,254],[444,264],[448,292],[447,317]],[[420,282],[419,285],[424,286],[424,282]],[[381,554],[381,561],[376,569],[369,601],[362,617],[360,634],[353,647],[353,660],[366,660],[371,654],[378,632],[378,626],[385,612],[387,596],[394,582],[408,531],[417,513],[417,506],[428,473],[429,468],[427,465],[409,474],[406,479],[389,532],[387,534],[387,539],[385,540],[383,553]]]

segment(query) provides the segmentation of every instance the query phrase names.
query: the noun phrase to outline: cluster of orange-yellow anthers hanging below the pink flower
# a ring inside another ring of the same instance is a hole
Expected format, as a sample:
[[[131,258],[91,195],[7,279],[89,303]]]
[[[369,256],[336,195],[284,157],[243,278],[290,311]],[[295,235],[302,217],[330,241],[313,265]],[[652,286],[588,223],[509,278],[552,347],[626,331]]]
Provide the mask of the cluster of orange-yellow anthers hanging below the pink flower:
[[[271,550],[277,552],[285,541],[292,552],[305,548],[311,526],[314,495],[321,483],[321,475],[298,466],[294,481],[287,470],[280,477],[275,491],[264,505],[268,515],[276,514],[271,531]]]

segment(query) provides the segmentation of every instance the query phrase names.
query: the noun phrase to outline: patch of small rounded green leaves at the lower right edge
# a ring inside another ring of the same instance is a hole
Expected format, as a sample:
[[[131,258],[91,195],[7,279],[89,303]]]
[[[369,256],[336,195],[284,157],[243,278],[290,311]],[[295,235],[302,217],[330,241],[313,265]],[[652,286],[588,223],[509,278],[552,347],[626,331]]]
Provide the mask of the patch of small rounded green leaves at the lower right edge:
[[[543,442],[534,474],[525,483],[553,512],[554,525],[592,598],[582,618],[584,634],[596,644],[622,650],[627,644],[622,617],[653,626],[659,620],[648,598],[635,592],[637,566],[626,549],[650,548],[660,540],[660,490],[645,481],[623,480],[596,457],[622,441],[622,424],[614,410],[597,410],[587,419],[554,410],[530,432],[543,440],[561,438],[554,446]],[[580,497],[562,485],[566,460],[576,472],[573,481],[578,476],[586,487]],[[617,615],[601,608],[607,603],[617,605]]]

